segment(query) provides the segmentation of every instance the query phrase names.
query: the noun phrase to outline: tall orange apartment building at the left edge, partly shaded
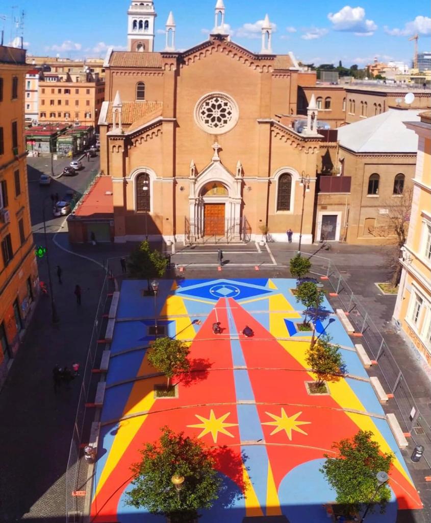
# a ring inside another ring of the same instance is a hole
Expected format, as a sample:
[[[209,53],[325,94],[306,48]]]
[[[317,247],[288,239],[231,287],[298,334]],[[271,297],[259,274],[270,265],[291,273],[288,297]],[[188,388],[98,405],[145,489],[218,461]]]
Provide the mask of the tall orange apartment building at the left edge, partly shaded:
[[[24,141],[26,51],[0,46],[0,386],[38,292]]]

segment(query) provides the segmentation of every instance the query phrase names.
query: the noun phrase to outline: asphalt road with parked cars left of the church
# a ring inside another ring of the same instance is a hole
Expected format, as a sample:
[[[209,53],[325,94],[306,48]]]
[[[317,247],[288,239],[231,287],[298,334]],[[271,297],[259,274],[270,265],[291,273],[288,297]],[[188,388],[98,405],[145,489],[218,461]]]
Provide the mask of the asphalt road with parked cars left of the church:
[[[70,158],[62,158],[53,161],[54,177],[62,173],[63,168],[69,165]],[[100,158],[99,155],[94,158],[84,158],[84,168],[79,170],[75,176],[61,176],[57,179],[52,179],[51,184],[39,185],[39,177],[43,174],[51,175],[51,158],[50,157],[28,157],[27,158],[27,177],[30,199],[30,215],[33,233],[38,233],[43,230],[42,208],[45,209],[45,221],[47,232],[55,232],[60,228],[64,217],[53,218],[51,194],[58,193],[61,199],[67,189],[74,189],[79,194],[82,194],[91,178],[91,173],[94,170],[99,171]]]

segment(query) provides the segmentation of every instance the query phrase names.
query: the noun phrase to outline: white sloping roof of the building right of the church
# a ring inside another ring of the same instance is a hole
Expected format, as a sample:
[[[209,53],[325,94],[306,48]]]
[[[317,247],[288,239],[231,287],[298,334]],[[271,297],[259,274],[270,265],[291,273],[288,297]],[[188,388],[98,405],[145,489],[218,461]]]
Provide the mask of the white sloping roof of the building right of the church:
[[[370,108],[369,108],[370,109]],[[420,121],[423,109],[389,109],[338,128],[340,145],[357,153],[415,153],[417,134],[403,122]]]

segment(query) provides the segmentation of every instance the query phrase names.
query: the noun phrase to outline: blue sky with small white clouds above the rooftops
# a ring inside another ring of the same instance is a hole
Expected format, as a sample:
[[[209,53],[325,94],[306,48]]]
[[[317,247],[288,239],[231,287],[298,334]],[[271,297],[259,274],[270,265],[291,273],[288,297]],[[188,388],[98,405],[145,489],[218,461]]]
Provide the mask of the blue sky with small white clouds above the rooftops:
[[[431,47],[429,0],[358,0],[321,2],[318,0],[224,0],[225,22],[232,40],[251,51],[260,50],[260,27],[269,14],[273,33],[273,52],[293,51],[298,60],[309,63],[357,63],[403,60],[410,62],[413,42],[420,35],[419,49]],[[63,58],[82,58],[106,54],[109,46],[124,49],[127,36],[129,0],[7,0],[0,1],[0,29],[5,29],[5,43],[16,36],[11,23],[11,5],[17,6],[14,17],[25,11],[24,40],[28,52]],[[214,24],[216,0],[156,0],[155,50],[162,50],[161,33],[169,11],[176,24],[176,47],[187,49],[206,40]],[[3,20],[1,15],[6,16]],[[11,30],[12,28],[12,30]]]

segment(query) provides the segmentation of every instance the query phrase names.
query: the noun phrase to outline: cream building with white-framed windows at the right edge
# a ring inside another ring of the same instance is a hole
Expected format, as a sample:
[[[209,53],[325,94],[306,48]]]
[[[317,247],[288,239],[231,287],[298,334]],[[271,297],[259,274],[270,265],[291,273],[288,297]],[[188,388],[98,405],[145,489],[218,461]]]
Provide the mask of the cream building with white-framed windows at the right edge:
[[[409,234],[403,248],[402,276],[394,320],[431,365],[431,111],[420,122],[405,122],[418,135]]]

